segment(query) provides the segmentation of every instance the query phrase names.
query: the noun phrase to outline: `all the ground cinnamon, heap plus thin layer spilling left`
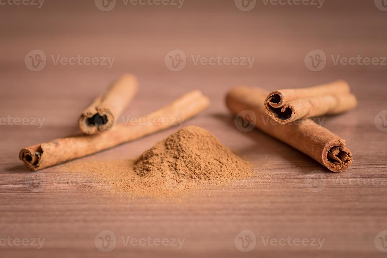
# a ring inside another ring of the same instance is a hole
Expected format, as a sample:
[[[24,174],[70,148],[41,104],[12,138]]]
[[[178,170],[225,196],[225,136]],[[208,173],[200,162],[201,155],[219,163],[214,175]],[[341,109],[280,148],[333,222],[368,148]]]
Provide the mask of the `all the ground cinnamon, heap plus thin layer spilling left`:
[[[198,126],[180,129],[137,160],[75,161],[64,166],[69,172],[90,173],[112,191],[135,196],[180,195],[251,176],[249,162]]]

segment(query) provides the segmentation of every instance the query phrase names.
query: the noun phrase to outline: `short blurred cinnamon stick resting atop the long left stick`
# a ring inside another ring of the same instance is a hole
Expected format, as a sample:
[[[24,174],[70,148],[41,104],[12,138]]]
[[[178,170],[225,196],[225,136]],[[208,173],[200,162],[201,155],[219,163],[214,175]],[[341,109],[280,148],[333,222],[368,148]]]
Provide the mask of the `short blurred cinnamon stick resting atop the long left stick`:
[[[79,129],[86,134],[110,131],[116,125],[117,117],[122,114],[137,93],[137,78],[124,74],[79,116]]]

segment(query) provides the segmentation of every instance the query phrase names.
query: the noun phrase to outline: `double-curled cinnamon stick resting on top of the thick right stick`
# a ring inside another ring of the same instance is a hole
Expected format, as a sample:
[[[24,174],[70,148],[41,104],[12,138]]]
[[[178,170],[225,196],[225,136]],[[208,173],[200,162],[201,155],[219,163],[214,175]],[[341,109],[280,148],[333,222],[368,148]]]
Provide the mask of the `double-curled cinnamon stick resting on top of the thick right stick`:
[[[339,114],[357,105],[343,80],[303,89],[273,91],[266,97],[267,114],[279,123],[289,123],[304,117]]]

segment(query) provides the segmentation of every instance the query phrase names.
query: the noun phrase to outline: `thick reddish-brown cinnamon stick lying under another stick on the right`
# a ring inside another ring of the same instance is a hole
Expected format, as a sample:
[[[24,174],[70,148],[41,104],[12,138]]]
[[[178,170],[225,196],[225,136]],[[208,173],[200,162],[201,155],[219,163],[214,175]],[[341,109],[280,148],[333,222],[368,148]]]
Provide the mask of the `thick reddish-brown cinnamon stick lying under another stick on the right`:
[[[270,121],[262,105],[267,94],[260,88],[238,86],[228,92],[226,104],[235,114],[252,110],[256,115],[255,127],[312,157],[330,171],[342,172],[351,166],[352,154],[345,147],[345,140],[309,118],[299,120],[297,125]]]

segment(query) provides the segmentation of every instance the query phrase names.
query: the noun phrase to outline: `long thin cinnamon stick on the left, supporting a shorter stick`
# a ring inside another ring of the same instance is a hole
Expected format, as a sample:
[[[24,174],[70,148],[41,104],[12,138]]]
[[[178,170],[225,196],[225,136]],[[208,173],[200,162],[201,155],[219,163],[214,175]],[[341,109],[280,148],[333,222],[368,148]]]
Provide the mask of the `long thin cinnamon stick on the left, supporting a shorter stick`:
[[[178,121],[182,123],[199,114],[208,106],[209,99],[202,92],[192,91],[168,106],[139,118],[136,124],[118,124],[109,132],[77,135],[36,144],[22,149],[19,159],[33,171],[43,169],[164,130],[177,125]]]

